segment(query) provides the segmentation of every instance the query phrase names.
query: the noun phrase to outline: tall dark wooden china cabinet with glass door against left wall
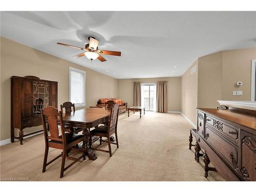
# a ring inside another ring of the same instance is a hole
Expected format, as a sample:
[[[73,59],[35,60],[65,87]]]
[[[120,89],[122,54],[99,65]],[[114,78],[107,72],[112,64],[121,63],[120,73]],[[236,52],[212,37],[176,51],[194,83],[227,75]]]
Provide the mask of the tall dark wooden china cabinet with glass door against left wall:
[[[42,80],[35,76],[11,77],[11,142],[39,130],[24,135],[26,127],[41,125],[41,110],[46,106],[58,107],[58,82]],[[19,135],[15,136],[15,129]]]

